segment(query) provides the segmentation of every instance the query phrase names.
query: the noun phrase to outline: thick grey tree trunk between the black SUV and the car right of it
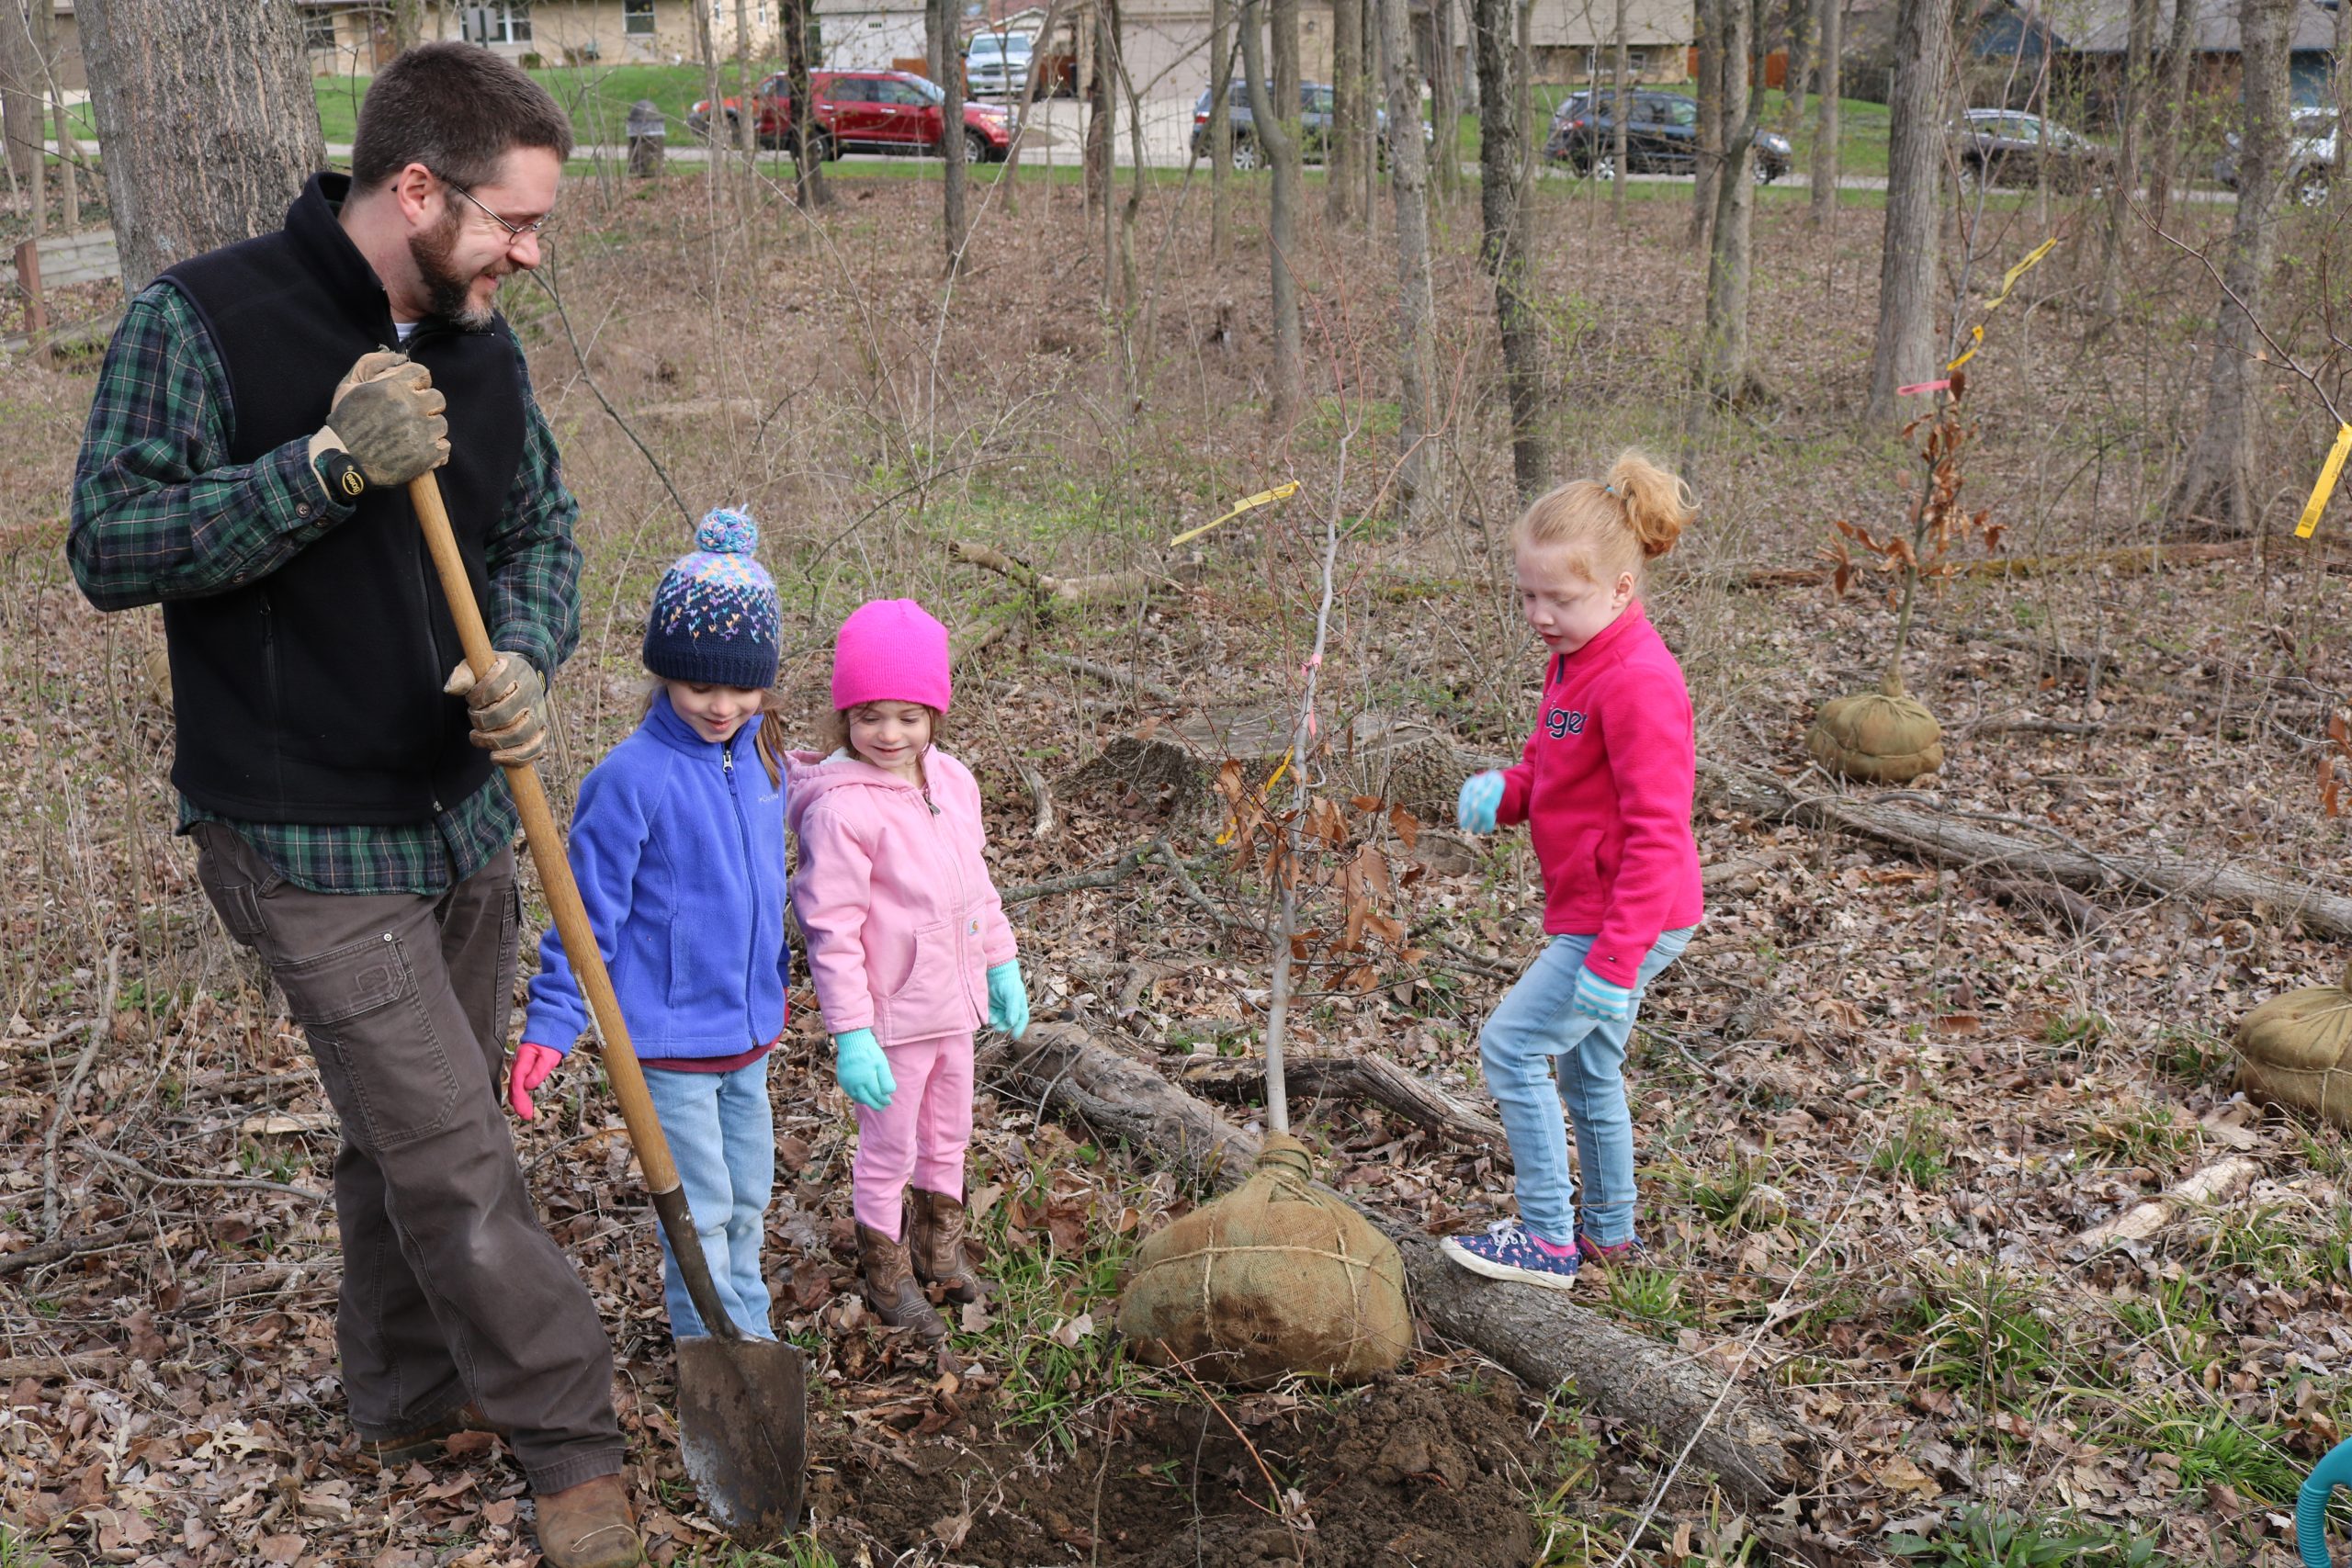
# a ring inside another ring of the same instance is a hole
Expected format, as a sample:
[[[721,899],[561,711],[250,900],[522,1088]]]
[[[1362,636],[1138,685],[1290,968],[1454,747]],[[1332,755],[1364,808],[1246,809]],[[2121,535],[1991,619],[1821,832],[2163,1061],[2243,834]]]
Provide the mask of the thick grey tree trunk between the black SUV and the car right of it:
[[[1896,388],[1936,374],[1936,228],[1943,183],[1943,73],[1952,0],[1903,0],[1896,82],[1889,94],[1886,244],[1879,252],[1879,334],[1870,350],[1863,418],[1896,416]]]

